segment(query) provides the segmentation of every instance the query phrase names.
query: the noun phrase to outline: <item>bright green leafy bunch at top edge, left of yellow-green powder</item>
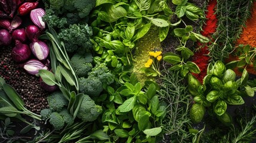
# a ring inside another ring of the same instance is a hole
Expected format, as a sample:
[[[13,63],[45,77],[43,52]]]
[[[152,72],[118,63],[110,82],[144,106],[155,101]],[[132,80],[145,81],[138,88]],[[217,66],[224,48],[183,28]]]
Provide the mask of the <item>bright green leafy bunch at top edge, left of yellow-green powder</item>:
[[[109,66],[131,64],[135,42],[158,27],[159,39],[164,41],[169,30],[171,9],[165,0],[96,1],[91,26],[94,32],[94,51]]]

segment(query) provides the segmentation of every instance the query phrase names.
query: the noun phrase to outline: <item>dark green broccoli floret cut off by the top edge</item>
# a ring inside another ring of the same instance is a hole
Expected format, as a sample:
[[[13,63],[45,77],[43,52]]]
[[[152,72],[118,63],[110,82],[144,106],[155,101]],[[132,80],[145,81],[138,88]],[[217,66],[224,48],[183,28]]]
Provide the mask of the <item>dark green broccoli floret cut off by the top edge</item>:
[[[77,8],[79,17],[84,18],[90,14],[92,8],[95,7],[95,0],[73,0],[75,8]]]

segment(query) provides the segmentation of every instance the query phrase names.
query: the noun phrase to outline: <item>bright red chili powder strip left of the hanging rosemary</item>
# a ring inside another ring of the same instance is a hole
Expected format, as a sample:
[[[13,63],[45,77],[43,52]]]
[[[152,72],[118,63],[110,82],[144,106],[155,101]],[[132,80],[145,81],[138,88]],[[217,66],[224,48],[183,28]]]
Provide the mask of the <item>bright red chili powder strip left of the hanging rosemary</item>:
[[[216,14],[214,14],[214,12],[215,12],[214,9],[215,9],[216,5],[217,5],[216,0],[209,1],[208,6],[207,6],[207,11],[205,13],[206,21],[202,27],[203,31],[201,32],[201,34],[203,36],[206,36],[210,39],[211,39],[212,33],[214,33],[217,28],[218,20],[217,20]],[[198,43],[198,45],[201,46],[202,43]],[[206,76],[206,71],[207,71],[207,67],[208,67],[209,57],[207,54],[209,53],[209,51],[207,48],[208,48],[207,46],[204,46],[203,48],[201,48],[200,51],[196,52],[195,55],[193,55],[193,62],[196,63],[196,65],[198,65],[199,69],[201,70],[201,73],[199,73],[199,74],[193,73],[193,75],[201,83],[203,82],[203,77]]]

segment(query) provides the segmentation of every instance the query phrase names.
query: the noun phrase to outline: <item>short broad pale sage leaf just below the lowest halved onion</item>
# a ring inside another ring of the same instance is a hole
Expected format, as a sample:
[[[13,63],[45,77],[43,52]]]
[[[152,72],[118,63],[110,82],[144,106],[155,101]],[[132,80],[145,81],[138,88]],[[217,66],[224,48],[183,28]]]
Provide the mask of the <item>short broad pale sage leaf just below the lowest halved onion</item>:
[[[39,70],[39,75],[47,85],[54,86],[56,84],[55,76],[51,71],[42,69]]]

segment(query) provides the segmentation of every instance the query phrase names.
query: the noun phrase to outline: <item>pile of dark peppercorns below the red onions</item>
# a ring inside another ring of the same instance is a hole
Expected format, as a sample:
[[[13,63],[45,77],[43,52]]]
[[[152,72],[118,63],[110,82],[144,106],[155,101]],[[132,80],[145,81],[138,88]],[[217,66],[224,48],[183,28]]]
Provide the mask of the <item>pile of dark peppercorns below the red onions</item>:
[[[48,108],[49,92],[41,88],[39,77],[33,76],[11,58],[11,47],[0,47],[0,77],[16,89],[30,111],[39,114]]]

